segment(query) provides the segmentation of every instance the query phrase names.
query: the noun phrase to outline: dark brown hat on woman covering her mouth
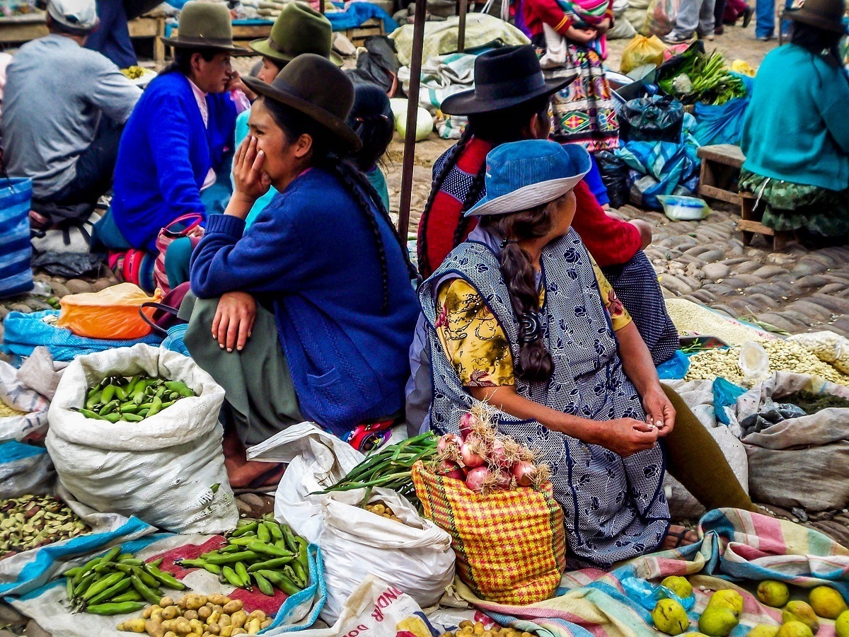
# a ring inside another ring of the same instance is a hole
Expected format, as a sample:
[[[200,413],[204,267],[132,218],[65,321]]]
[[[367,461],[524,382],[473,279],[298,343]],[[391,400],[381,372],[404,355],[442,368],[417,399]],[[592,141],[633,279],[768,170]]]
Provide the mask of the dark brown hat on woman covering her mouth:
[[[300,111],[330,133],[331,142],[358,150],[363,143],[346,124],[354,104],[354,85],[329,59],[302,54],[283,67],[271,84],[245,77],[252,91]]]

